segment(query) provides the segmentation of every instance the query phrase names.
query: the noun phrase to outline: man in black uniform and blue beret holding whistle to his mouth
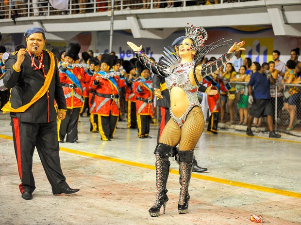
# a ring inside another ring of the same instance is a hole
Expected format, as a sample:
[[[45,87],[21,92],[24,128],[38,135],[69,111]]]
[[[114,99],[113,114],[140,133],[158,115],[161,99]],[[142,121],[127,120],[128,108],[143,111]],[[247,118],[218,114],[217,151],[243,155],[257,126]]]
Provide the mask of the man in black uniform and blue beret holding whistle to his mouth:
[[[11,98],[2,110],[10,112],[14,146],[17,157],[19,185],[22,198],[33,198],[33,151],[36,147],[53,195],[73,194],[79,189],[71,189],[63,175],[59,143],[57,139],[58,118],[66,116],[66,100],[55,56],[43,50],[46,44],[45,30],[27,30],[27,49],[20,49],[9,57],[6,63],[4,85],[11,88]]]

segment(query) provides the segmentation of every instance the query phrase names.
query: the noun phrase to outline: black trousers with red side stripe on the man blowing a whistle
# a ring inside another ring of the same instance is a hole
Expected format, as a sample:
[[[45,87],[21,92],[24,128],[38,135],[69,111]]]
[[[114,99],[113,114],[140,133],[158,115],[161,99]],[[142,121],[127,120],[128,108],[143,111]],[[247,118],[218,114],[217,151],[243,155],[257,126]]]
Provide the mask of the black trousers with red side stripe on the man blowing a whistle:
[[[21,184],[20,192],[31,192],[35,189],[33,178],[33,151],[36,147],[52,193],[60,194],[68,188],[60,164],[59,143],[56,121],[49,123],[28,123],[12,118],[14,146]]]

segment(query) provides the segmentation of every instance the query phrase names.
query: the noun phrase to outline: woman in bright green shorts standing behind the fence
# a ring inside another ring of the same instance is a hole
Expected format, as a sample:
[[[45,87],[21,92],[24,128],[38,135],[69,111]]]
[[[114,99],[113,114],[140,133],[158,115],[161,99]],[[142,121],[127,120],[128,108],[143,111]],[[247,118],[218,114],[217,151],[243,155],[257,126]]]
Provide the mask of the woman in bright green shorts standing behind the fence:
[[[232,81],[249,82],[250,75],[246,75],[247,67],[241,66],[239,74],[236,74]],[[248,120],[248,87],[243,84],[236,84],[236,101],[239,108],[239,125],[247,125]]]

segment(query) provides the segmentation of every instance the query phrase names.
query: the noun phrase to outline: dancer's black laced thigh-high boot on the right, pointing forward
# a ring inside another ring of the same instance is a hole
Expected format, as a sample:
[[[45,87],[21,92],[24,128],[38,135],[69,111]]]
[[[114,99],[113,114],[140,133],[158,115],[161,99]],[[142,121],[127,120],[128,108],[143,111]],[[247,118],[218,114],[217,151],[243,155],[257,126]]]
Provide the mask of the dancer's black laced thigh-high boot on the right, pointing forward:
[[[180,151],[178,150],[178,163],[179,163],[179,174],[180,174],[180,198],[178,204],[178,211],[180,214],[185,214],[188,212],[188,201],[190,199],[188,193],[188,187],[190,183],[191,173],[192,173],[192,162],[193,162],[193,152],[190,151]]]

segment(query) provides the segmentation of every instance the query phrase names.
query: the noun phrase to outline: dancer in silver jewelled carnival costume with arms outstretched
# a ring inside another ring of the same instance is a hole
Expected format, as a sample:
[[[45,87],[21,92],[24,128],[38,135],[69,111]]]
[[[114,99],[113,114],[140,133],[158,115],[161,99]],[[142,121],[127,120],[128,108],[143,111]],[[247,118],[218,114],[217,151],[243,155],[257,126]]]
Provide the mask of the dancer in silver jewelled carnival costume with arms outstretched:
[[[154,151],[157,195],[149,210],[152,217],[160,215],[162,206],[165,213],[168,201],[166,185],[170,166],[168,158],[171,156],[176,156],[179,163],[181,189],[178,211],[180,214],[188,212],[190,198],[188,186],[192,172],[193,153],[205,126],[201,104],[197,97],[198,86],[203,77],[214,74],[218,68],[227,64],[235,51],[245,50],[241,47],[244,42],[233,45],[229,42],[203,45],[208,35],[206,30],[199,26],[187,23],[185,31],[185,39],[179,46],[180,57],[173,52],[172,48],[165,48],[166,55],[163,57],[166,65],[151,61],[141,52],[142,45],[138,47],[128,42],[141,63],[146,65],[153,74],[165,77],[167,89],[170,92],[171,119],[167,122]],[[231,48],[219,59],[202,65],[201,59],[209,51],[220,46],[231,46]],[[160,90],[155,90],[154,94],[162,98]],[[176,148],[178,144],[179,147]]]

